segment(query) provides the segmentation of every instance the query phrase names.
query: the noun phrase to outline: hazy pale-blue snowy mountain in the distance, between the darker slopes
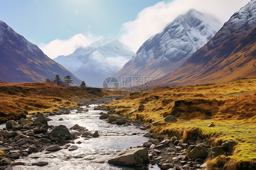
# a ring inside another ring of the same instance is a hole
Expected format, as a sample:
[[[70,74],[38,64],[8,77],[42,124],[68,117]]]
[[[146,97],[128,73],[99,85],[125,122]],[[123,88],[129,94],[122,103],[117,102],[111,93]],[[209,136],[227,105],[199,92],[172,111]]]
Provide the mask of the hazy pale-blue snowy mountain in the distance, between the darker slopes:
[[[133,51],[117,39],[106,38],[53,60],[71,70],[87,85],[102,87],[103,80],[114,75],[133,55]]]

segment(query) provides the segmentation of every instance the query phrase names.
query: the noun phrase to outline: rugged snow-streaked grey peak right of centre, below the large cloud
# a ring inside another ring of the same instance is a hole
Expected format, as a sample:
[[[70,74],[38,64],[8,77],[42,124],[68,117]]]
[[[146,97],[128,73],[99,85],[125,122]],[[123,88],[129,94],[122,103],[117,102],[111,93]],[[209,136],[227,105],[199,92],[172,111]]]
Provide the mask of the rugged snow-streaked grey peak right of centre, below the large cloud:
[[[220,27],[220,22],[212,16],[191,9],[146,40],[114,77],[120,80],[123,76],[152,76],[156,79],[166,75],[205,45]]]

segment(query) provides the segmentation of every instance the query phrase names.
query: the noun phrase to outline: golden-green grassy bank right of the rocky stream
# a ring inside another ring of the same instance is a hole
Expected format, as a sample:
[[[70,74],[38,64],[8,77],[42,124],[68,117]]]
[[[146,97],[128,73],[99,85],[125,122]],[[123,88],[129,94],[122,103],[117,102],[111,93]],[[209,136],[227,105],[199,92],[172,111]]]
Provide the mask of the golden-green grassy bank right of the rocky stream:
[[[252,92],[251,92],[252,91]],[[186,140],[194,135],[209,139],[211,145],[232,139],[238,142],[233,155],[207,160],[208,168],[243,169],[256,163],[256,79],[239,79],[221,84],[156,87],[154,93],[134,93],[108,108],[145,123],[159,121],[158,135],[177,135]],[[144,105],[140,109],[140,105]],[[175,115],[176,123],[164,122]],[[215,127],[207,127],[214,123]],[[223,164],[223,165],[222,165]],[[223,167],[222,167],[223,168]]]

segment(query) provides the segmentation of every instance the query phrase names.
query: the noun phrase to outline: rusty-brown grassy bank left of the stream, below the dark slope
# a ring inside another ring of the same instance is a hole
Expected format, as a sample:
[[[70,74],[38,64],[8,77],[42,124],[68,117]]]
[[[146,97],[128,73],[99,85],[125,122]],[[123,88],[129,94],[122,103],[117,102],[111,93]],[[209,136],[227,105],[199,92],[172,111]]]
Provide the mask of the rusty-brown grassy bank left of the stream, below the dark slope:
[[[103,96],[101,89],[91,87],[60,87],[46,83],[0,84],[0,123],[26,117],[28,112],[54,111],[59,107],[77,106],[73,98]]]

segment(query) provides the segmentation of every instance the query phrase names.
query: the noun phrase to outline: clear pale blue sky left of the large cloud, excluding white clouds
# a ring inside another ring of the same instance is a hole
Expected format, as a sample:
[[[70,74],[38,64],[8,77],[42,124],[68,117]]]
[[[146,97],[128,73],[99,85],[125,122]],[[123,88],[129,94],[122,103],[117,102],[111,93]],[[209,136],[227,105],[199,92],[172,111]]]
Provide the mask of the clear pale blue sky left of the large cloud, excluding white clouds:
[[[118,36],[122,24],[161,0],[1,0],[0,20],[35,44],[74,32]]]

